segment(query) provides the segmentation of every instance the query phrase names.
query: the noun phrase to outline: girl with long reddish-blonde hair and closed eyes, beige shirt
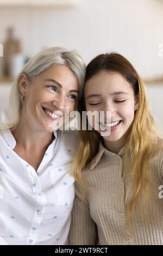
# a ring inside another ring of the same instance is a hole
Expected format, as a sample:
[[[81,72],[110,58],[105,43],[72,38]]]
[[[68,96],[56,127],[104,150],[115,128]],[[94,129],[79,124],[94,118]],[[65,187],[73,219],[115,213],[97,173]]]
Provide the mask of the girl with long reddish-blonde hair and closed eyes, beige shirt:
[[[89,63],[85,110],[104,119],[79,131],[70,244],[163,245],[163,141],[126,58],[101,54]]]

